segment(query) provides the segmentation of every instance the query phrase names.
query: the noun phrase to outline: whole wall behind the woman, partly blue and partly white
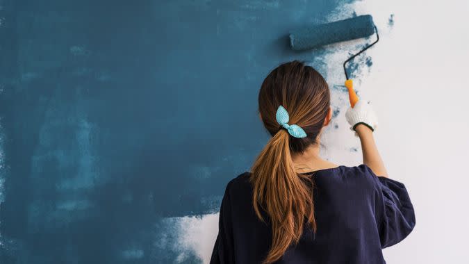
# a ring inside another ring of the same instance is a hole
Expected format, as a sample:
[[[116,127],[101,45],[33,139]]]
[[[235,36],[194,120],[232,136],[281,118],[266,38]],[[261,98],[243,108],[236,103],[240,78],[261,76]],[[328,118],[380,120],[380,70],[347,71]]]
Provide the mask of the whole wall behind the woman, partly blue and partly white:
[[[448,233],[467,237],[457,226],[468,215],[437,220],[431,206],[456,215],[460,204],[445,201],[463,199],[462,187],[447,199],[434,191],[469,149],[456,140],[469,133],[457,96],[468,94],[468,6],[451,3],[455,15],[439,21],[447,31],[434,15],[451,4],[415,19],[423,3],[0,0],[0,263],[208,262],[224,187],[268,140],[258,88],[287,60],[309,61],[330,85],[322,154],[358,165],[341,65],[373,37],[295,53],[287,35],[366,13],[382,40],[349,70],[381,117],[390,174],[418,210],[414,233],[386,254],[390,263],[464,263],[462,248],[442,250],[431,230],[447,224],[448,242]],[[436,129],[447,127],[452,138],[435,149]]]

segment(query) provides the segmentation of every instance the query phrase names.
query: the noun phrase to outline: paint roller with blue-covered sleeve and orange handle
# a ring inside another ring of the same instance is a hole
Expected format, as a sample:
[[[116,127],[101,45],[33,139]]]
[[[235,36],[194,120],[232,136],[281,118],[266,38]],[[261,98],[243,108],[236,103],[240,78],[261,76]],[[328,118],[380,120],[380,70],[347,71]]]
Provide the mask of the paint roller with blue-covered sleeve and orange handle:
[[[366,38],[374,33],[376,33],[377,37],[375,42],[368,44],[365,48],[361,49],[361,51],[350,56],[350,58],[345,60],[343,64],[346,80],[345,87],[349,91],[350,105],[353,108],[356,102],[359,101],[359,97],[354,91],[353,81],[352,79],[349,79],[347,68],[345,66],[350,60],[353,60],[356,56],[378,42],[378,29],[376,28],[375,23],[373,23],[371,15],[360,15],[358,17],[352,17],[327,24],[299,28],[290,33],[290,47],[295,51],[304,51],[336,42]]]

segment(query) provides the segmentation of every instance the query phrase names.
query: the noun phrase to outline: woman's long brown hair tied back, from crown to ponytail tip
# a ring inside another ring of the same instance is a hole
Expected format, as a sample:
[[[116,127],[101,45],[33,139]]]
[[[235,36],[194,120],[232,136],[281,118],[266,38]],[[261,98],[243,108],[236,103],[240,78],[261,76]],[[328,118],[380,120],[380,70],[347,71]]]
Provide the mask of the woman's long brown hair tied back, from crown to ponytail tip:
[[[329,87],[313,67],[297,60],[272,70],[258,95],[259,113],[265,129],[272,135],[252,165],[253,206],[265,222],[261,209],[272,224],[272,245],[263,263],[277,261],[292,242],[302,237],[304,224],[316,231],[313,181],[298,174],[292,154],[302,154],[318,144],[318,137],[330,105]],[[306,138],[295,138],[281,129],[275,114],[283,106],[290,115],[288,124],[297,124]],[[305,221],[306,220],[306,221]]]

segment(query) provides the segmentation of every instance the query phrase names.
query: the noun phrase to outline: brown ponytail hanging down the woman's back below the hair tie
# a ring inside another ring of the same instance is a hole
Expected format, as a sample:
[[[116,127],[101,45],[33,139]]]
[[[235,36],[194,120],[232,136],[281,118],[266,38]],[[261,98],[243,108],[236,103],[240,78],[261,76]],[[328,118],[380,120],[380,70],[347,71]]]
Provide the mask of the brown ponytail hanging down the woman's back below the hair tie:
[[[305,219],[316,231],[313,182],[297,174],[290,153],[290,135],[280,129],[270,138],[252,166],[253,206],[265,222],[261,208],[272,224],[272,245],[263,264],[277,261],[290,244],[302,237]]]

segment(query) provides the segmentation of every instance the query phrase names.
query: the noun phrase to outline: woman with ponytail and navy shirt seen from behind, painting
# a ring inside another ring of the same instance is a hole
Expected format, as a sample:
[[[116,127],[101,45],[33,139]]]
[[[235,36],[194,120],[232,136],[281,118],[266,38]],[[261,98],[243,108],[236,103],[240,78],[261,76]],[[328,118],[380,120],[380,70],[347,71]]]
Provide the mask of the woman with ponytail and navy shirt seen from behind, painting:
[[[363,150],[354,167],[319,156],[332,114],[328,85],[313,67],[274,69],[258,104],[272,138],[251,172],[227,184],[211,263],[386,263],[381,249],[409,235],[415,215],[379,156],[370,104],[359,100],[345,114]]]

